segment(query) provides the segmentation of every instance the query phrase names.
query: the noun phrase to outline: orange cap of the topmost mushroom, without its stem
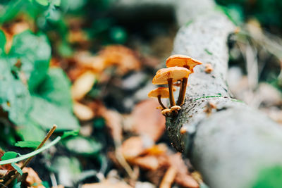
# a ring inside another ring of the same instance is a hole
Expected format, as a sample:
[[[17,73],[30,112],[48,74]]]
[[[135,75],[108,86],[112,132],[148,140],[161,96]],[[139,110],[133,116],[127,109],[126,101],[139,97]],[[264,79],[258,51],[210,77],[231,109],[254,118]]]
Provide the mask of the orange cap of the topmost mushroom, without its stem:
[[[174,66],[184,67],[184,68],[188,68],[192,73],[194,73],[193,68],[196,65],[200,65],[200,64],[202,64],[202,62],[197,61],[189,56],[180,55],[180,54],[169,56],[166,59],[167,67],[174,67]]]

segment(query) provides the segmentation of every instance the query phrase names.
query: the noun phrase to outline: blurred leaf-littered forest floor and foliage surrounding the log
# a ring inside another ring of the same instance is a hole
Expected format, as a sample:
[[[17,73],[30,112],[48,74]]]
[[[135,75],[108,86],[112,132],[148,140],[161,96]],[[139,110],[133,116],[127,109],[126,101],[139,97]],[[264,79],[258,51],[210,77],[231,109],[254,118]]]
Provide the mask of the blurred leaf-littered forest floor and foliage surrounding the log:
[[[0,156],[20,140],[78,136],[38,155],[22,187],[201,187],[147,99],[179,29],[173,1],[1,0]],[[238,26],[228,46],[236,99],[282,124],[282,1],[217,0]],[[148,8],[149,7],[149,8]],[[0,166],[0,183],[13,168]],[[171,175],[172,174],[172,175]],[[3,181],[2,181],[3,182]]]

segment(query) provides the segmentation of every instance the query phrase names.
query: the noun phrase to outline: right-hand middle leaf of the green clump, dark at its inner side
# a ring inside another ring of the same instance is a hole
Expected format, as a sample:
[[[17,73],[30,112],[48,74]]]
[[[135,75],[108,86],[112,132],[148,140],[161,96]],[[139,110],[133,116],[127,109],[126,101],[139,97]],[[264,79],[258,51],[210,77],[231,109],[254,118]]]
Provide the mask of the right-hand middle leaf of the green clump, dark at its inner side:
[[[66,107],[69,111],[73,109],[71,81],[61,68],[49,69],[47,77],[37,88],[37,94],[57,106]]]

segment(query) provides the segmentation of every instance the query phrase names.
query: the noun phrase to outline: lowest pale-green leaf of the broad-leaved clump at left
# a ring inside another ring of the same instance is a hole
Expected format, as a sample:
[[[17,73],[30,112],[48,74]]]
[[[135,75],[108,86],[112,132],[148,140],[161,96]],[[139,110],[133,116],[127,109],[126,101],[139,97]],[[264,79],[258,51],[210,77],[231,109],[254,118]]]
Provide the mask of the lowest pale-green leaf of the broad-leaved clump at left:
[[[38,96],[32,96],[32,104],[30,118],[45,130],[49,130],[50,125],[54,124],[58,125],[57,130],[79,129],[78,119],[68,109],[51,104]]]

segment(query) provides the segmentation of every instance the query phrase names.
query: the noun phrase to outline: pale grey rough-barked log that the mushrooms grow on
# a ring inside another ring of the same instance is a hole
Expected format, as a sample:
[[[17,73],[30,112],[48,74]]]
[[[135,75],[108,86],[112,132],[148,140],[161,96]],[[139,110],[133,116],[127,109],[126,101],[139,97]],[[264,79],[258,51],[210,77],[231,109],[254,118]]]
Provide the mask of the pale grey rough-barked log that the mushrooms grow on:
[[[167,132],[209,187],[255,187],[262,172],[281,170],[282,130],[264,114],[231,98],[226,84],[227,39],[234,26],[222,13],[208,12],[181,27],[176,36],[172,54],[192,56],[203,65],[189,77],[179,115],[166,119]],[[210,74],[204,72],[206,63],[214,68]],[[181,127],[188,133],[180,134]]]

